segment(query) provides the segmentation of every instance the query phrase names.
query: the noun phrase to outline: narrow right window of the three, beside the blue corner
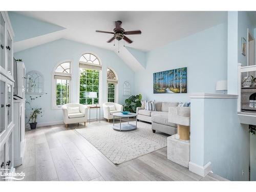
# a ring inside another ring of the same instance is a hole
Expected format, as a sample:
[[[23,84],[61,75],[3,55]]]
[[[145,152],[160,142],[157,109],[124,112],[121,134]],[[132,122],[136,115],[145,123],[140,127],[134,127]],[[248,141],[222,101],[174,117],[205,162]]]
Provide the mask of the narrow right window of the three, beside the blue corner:
[[[117,77],[113,70],[107,69],[108,102],[117,102]]]

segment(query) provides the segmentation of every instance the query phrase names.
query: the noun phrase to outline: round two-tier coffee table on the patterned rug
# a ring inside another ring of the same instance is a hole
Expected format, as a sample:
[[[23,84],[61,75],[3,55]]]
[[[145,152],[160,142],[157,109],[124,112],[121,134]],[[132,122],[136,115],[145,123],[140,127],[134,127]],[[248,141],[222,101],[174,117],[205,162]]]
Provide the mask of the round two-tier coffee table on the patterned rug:
[[[132,131],[132,130],[136,130],[137,129],[137,114],[136,113],[129,113],[127,115],[124,115],[122,113],[113,113],[113,129],[114,130],[118,130],[118,131]],[[115,124],[115,117],[116,119],[119,119],[119,125]],[[129,123],[129,117],[136,117],[136,125],[134,124],[130,124]],[[127,123],[121,123],[121,119],[122,118],[127,118],[128,122]]]

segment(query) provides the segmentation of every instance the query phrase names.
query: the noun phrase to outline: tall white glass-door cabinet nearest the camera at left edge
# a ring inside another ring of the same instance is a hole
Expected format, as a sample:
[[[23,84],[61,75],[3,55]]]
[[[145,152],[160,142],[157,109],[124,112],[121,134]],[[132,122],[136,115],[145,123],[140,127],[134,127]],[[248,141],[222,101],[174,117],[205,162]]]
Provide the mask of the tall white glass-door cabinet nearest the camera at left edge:
[[[0,171],[13,171],[13,30],[0,12]],[[2,180],[1,178],[1,181]]]

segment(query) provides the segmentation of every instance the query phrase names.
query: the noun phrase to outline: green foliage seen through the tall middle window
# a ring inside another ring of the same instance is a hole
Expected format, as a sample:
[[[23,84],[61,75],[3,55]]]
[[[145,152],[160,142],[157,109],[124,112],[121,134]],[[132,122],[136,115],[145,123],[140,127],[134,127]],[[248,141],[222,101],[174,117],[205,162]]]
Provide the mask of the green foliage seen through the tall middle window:
[[[89,92],[97,92],[94,104],[99,103],[99,70],[83,69],[80,72],[80,104],[92,104]]]

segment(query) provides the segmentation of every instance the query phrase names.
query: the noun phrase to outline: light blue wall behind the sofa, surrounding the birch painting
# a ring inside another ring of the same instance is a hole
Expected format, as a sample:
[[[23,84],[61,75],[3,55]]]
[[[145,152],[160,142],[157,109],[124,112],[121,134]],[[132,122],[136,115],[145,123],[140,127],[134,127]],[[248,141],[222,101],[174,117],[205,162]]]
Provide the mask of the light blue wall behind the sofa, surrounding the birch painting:
[[[135,75],[135,93],[157,101],[188,101],[188,94],[153,94],[153,73],[187,67],[187,91],[215,93],[227,79],[227,25],[220,24],[147,52],[145,70]]]

